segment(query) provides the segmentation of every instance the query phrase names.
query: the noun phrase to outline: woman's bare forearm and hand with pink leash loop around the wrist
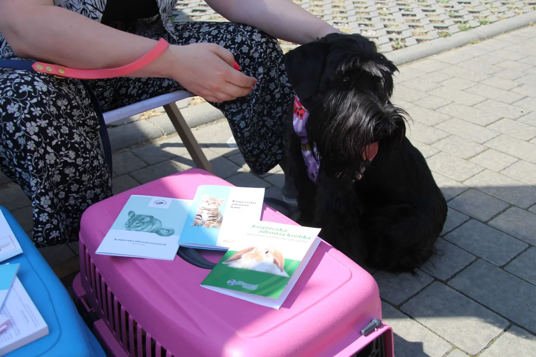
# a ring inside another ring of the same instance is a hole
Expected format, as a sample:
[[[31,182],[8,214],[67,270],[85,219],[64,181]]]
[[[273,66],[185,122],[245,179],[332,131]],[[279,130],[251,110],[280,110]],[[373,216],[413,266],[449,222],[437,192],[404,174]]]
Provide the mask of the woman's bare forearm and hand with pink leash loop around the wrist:
[[[53,0],[0,0],[0,33],[19,57],[78,69],[123,66],[157,44],[54,6]],[[221,102],[249,94],[256,81],[234,70],[233,62],[216,44],[171,45],[129,76],[173,78],[193,94]]]

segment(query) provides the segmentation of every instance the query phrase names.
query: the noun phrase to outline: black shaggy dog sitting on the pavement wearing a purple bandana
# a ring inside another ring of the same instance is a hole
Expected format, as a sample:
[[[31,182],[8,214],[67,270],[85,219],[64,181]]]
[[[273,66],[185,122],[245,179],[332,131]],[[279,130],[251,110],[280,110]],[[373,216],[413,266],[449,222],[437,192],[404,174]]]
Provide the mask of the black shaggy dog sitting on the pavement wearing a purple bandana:
[[[286,128],[299,223],[369,267],[414,272],[435,252],[447,207],[406,138],[409,116],[390,102],[397,67],[357,34],[304,44],[285,66],[299,98]]]

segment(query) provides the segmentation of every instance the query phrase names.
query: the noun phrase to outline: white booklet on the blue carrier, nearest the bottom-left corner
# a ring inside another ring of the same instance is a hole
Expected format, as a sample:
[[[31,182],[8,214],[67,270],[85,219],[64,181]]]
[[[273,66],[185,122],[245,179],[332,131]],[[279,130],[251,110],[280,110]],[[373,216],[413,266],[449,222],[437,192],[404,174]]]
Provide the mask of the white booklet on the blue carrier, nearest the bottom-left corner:
[[[0,356],[49,333],[47,323],[17,277],[0,309],[0,316],[9,319],[0,332]]]

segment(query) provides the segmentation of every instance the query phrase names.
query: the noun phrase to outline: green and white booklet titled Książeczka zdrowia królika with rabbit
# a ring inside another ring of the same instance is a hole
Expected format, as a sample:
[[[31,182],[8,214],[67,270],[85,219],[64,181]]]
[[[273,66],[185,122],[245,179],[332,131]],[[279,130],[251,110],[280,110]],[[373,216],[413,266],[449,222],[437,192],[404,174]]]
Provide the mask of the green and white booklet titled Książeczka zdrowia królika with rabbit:
[[[319,228],[250,223],[201,283],[210,290],[279,309],[321,239]]]

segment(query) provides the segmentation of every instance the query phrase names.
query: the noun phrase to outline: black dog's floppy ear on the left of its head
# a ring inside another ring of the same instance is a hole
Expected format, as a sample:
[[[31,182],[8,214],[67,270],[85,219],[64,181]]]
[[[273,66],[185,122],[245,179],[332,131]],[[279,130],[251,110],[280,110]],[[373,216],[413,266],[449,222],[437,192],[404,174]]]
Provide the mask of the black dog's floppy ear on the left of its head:
[[[288,81],[300,100],[306,100],[317,90],[324,70],[328,44],[309,42],[288,51],[283,57]]]

